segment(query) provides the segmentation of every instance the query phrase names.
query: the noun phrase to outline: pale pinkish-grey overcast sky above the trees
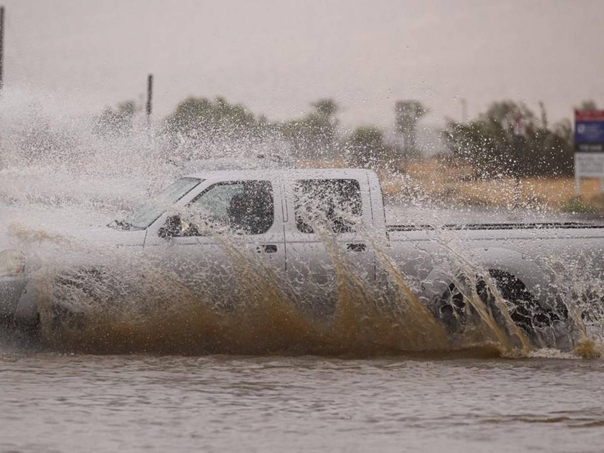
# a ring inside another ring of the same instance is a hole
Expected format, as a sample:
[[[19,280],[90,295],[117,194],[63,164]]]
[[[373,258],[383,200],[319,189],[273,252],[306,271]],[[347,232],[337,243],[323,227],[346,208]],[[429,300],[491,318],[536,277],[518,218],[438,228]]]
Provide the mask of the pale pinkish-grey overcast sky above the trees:
[[[1,0],[0,0],[1,1]],[[543,100],[552,120],[604,104],[604,1],[4,0],[5,83],[97,112],[145,91],[155,113],[223,95],[270,119],[334,97],[344,124],[393,124]]]

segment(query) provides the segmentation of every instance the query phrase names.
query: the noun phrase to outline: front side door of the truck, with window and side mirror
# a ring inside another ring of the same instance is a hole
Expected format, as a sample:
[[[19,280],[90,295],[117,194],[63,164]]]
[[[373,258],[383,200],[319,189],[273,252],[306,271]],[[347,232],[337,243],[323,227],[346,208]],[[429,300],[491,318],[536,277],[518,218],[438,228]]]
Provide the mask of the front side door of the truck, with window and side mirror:
[[[266,179],[208,185],[150,240],[161,260],[216,304],[276,284],[285,271],[282,193]],[[262,289],[261,289],[262,291]]]

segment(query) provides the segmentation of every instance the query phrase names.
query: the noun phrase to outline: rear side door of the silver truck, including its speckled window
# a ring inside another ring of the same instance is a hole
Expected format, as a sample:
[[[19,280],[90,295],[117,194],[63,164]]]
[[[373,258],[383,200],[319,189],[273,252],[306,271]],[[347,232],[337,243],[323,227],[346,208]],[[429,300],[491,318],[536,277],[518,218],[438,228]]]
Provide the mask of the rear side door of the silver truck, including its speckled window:
[[[298,303],[311,313],[330,315],[338,288],[356,291],[352,280],[373,291],[367,181],[300,178],[289,182],[287,196],[287,275]],[[346,286],[338,287],[342,283]]]

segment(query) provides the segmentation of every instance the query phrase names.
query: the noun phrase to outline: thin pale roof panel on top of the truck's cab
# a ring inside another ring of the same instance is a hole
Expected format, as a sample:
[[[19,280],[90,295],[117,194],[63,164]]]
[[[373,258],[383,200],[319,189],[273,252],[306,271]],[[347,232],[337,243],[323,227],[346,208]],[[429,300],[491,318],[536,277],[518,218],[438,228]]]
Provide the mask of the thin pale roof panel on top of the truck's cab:
[[[362,178],[375,174],[364,169],[263,169],[263,170],[208,170],[187,175],[187,178],[254,178],[283,176],[284,178]]]

